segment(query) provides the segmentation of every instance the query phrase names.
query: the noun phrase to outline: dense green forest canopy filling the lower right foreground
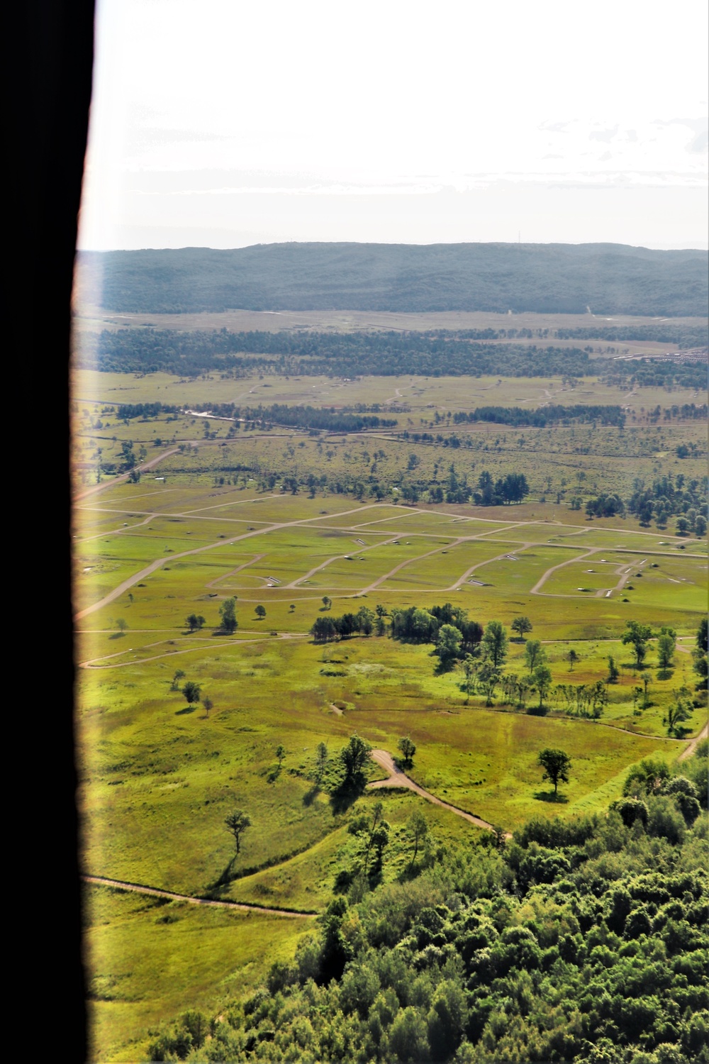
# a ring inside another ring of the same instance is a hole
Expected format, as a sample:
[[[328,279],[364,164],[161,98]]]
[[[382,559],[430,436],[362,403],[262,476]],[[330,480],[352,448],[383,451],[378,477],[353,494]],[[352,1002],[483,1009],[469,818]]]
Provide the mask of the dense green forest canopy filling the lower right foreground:
[[[645,763],[607,815],[510,842],[424,838],[426,860],[353,882],[292,962],[218,1018],[184,1014],[150,1059],[709,1064],[706,765],[706,742],[681,775]],[[383,811],[351,822],[371,865]]]

